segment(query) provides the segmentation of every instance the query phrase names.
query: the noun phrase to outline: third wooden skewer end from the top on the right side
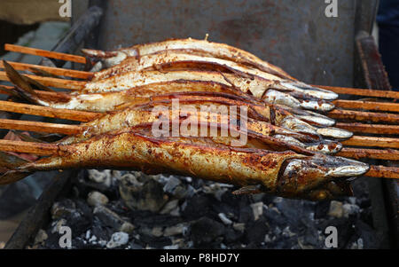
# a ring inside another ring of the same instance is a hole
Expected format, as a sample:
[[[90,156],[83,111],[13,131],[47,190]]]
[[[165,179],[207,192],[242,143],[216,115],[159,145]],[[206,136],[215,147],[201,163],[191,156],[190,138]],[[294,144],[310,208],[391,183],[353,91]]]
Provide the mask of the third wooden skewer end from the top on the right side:
[[[354,120],[357,122],[389,122],[393,124],[399,123],[399,114],[372,113],[353,110],[334,109],[328,113],[333,119]]]

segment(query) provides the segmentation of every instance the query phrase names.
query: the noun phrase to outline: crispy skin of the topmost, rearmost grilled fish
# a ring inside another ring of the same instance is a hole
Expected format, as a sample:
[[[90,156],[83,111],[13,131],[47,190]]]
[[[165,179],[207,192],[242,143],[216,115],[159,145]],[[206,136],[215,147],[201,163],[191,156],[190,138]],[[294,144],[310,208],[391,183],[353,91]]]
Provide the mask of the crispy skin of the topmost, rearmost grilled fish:
[[[140,57],[158,53],[160,51],[185,51],[207,57],[215,57],[217,59],[231,60],[247,66],[259,68],[264,72],[268,72],[272,75],[278,75],[283,79],[295,80],[280,67],[263,61],[250,52],[243,51],[225,43],[213,43],[207,40],[197,40],[192,38],[170,39],[157,43],[137,44],[129,48],[112,52],[85,49],[82,51],[88,56],[108,58],[107,65],[110,67],[119,64],[123,59],[127,59],[129,57]]]

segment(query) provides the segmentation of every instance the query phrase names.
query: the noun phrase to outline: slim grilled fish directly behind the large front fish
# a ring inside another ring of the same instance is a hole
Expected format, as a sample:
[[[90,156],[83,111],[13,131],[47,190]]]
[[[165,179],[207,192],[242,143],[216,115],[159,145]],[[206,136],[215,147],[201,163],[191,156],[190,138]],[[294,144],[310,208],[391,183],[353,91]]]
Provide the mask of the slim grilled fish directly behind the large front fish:
[[[224,111],[220,109],[221,106],[218,106],[215,110],[209,108],[206,111],[201,111],[198,109],[198,106],[193,105],[179,105],[177,109],[175,109],[175,106],[168,108],[169,103],[165,101],[157,104],[160,106],[155,106],[154,103],[131,106],[116,113],[106,114],[91,122],[82,123],[81,126],[84,130],[81,134],[73,137],[66,137],[61,140],[59,144],[69,145],[81,142],[82,140],[104,134],[108,131],[129,129],[130,127],[135,127],[143,123],[155,123],[162,118],[162,122],[179,122],[184,120],[186,124],[200,123],[201,125],[219,125],[223,123],[231,124],[239,122],[240,127],[244,127],[245,125],[247,131],[259,137],[272,137],[275,142],[280,140],[282,142],[279,145],[280,147],[286,147],[282,145],[285,143],[320,153],[337,153],[342,148],[342,145],[338,142],[324,140],[315,135],[301,134],[292,130],[286,130],[274,126],[269,122],[256,121],[247,117],[247,114],[244,114],[244,117],[242,117],[243,114],[231,114],[227,106]],[[162,104],[166,106],[162,106]],[[154,106],[155,109],[153,108]],[[203,106],[200,108],[203,108]],[[274,149],[277,148],[274,147]]]

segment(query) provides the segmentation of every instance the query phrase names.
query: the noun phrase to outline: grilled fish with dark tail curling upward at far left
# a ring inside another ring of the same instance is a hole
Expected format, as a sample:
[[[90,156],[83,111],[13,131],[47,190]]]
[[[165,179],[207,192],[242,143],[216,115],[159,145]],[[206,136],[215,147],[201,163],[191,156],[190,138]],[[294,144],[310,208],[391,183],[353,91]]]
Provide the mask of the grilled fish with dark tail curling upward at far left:
[[[8,74],[9,72],[7,72],[7,75]],[[135,106],[138,104],[149,103],[154,100],[161,101],[162,99],[179,98],[179,100],[190,100],[192,102],[196,102],[197,104],[200,104],[201,101],[206,101],[207,103],[215,105],[248,106],[252,114],[258,114],[257,119],[260,119],[261,117],[259,114],[262,114],[262,120],[265,122],[270,122],[273,125],[285,127],[290,130],[307,132],[310,134],[317,134],[317,131],[320,131],[320,129],[324,129],[325,127],[329,128],[335,123],[334,120],[328,117],[325,117],[321,114],[309,114],[307,111],[301,111],[301,113],[297,112],[297,115],[293,115],[287,112],[284,106],[274,106],[268,102],[260,101],[255,98],[251,98],[250,96],[242,94],[240,95],[239,93],[231,94],[230,92],[239,92],[239,90],[234,88],[225,88],[215,84],[213,84],[213,87],[210,87],[212,84],[209,84],[208,82],[205,84],[202,82],[172,82],[173,85],[170,86],[169,84],[158,84],[158,86],[144,86],[134,88],[132,90],[80,94],[76,96],[62,94],[62,98],[57,100],[52,97],[44,98],[43,95],[38,95],[34,90],[29,89],[29,85],[26,84],[27,82],[21,81],[18,75],[12,75],[12,72],[10,72],[10,74],[11,75],[9,75],[9,77],[11,78],[12,82],[20,85],[16,87],[16,90],[18,90],[24,98],[27,98],[39,105],[56,108],[106,112],[112,111],[117,106],[121,105]],[[201,84],[204,86],[202,87]],[[196,91],[202,89],[212,91]],[[179,90],[183,90],[184,92],[161,95],[161,93],[164,93],[165,91],[168,92]],[[221,92],[215,92],[217,90],[220,90]],[[229,93],[222,91],[228,91]],[[295,111],[295,109],[293,109],[293,111]],[[306,122],[301,120],[302,118]],[[320,127],[311,126],[307,122],[319,125]],[[348,132],[347,130],[333,129],[323,130],[320,132],[322,132],[326,137],[340,139],[352,136],[352,133]]]

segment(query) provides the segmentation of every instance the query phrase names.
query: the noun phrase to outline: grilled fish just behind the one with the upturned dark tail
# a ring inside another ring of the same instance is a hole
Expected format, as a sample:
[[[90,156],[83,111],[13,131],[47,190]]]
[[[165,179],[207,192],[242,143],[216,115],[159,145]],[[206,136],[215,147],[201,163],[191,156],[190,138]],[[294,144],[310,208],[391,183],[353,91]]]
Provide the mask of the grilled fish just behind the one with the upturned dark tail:
[[[326,102],[318,98],[312,98],[306,93],[296,93],[293,96],[290,93],[292,89],[284,87],[279,81],[263,79],[258,76],[247,78],[239,75],[222,74],[212,71],[133,71],[114,75],[106,79],[94,82],[87,82],[85,88],[79,93],[98,93],[121,90],[142,90],[146,88],[159,86],[162,84],[173,86],[176,83],[186,83],[190,90],[190,84],[197,83],[199,90],[210,91],[231,91],[235,94],[243,93],[262,99],[273,104],[282,104],[293,108],[305,108],[312,110],[331,111],[334,106],[332,103]],[[207,88],[207,85],[210,88]],[[216,86],[217,85],[217,86]],[[212,88],[213,87],[213,88]],[[217,87],[217,88],[216,88]],[[273,89],[273,90],[271,90]],[[279,91],[283,90],[283,91]],[[74,93],[73,93],[74,94]],[[302,99],[297,99],[302,98]]]

